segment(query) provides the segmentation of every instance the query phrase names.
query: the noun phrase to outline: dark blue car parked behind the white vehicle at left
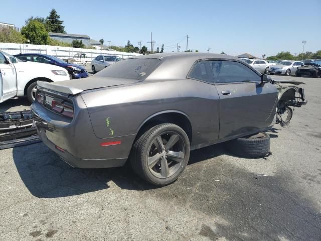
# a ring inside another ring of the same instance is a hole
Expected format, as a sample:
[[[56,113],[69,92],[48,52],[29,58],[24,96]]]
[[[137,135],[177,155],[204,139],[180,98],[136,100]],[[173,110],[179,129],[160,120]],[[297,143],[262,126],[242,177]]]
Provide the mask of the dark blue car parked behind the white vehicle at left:
[[[16,54],[15,57],[25,60],[45,64],[53,64],[67,69],[70,79],[79,79],[88,77],[88,72],[85,67],[67,63],[55,56],[48,54]]]

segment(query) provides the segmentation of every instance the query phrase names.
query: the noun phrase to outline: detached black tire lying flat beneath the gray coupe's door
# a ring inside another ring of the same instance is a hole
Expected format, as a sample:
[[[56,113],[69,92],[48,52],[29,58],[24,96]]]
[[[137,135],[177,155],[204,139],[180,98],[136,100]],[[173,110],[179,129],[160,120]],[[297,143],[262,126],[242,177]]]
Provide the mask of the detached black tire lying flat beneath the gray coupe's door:
[[[264,132],[237,138],[226,143],[227,149],[240,157],[260,158],[270,152],[270,136]]]

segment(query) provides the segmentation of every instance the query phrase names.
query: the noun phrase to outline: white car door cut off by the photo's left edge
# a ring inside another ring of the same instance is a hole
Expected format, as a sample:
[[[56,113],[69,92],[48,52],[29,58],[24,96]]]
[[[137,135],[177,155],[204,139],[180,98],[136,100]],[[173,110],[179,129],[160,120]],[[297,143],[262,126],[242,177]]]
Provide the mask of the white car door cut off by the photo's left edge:
[[[0,102],[17,95],[17,73],[13,63],[0,52]]]

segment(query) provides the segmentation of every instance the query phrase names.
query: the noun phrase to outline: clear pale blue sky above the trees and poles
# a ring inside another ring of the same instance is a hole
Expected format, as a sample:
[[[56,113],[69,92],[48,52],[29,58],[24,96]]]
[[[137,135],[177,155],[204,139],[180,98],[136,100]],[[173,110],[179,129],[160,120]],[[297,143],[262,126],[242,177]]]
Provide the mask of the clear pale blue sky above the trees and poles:
[[[47,17],[52,8],[64,21],[65,31],[86,34],[104,45],[125,46],[127,41],[165,52],[188,48],[230,55],[275,55],[321,49],[321,0],[162,0],[162,1],[6,1],[1,0],[0,22],[22,27],[31,16]]]

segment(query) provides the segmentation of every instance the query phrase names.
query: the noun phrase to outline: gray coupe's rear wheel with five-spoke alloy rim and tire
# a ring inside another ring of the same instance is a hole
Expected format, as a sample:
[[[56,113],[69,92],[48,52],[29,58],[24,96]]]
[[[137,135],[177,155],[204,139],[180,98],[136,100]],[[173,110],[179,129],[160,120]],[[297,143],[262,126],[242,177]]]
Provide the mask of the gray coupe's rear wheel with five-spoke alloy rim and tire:
[[[149,183],[164,186],[177,180],[190,158],[190,141],[182,128],[166,123],[146,131],[134,144],[133,170]]]

